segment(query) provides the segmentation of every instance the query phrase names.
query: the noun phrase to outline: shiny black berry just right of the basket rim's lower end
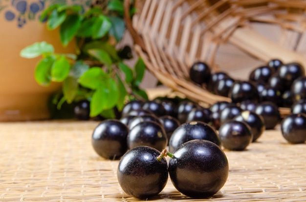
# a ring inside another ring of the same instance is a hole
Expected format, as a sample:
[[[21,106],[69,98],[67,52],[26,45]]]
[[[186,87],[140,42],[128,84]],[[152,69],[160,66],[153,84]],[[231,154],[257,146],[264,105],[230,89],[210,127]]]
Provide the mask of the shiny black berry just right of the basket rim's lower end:
[[[259,101],[257,86],[252,81],[235,81],[228,93],[228,97],[234,103],[240,103],[245,100]]]

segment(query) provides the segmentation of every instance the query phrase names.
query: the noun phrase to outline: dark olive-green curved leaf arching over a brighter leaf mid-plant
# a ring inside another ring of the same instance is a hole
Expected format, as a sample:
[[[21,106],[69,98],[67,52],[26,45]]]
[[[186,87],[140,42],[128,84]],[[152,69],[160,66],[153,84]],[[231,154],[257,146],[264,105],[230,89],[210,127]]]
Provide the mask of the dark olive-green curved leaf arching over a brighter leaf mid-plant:
[[[120,60],[120,58],[117,55],[117,50],[109,42],[101,41],[101,40],[93,40],[84,45],[83,51],[87,53],[89,49],[103,49],[106,52],[108,52],[110,57],[114,59],[115,61]]]

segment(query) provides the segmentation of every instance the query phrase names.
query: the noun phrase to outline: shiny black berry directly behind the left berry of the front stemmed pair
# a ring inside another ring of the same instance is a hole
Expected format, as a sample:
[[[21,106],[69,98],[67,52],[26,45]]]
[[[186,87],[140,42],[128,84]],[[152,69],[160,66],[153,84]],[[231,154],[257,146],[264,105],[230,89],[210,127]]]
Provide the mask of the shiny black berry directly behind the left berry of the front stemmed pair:
[[[161,124],[154,121],[143,121],[131,128],[127,143],[129,149],[145,145],[162,151],[168,144],[168,138]]]

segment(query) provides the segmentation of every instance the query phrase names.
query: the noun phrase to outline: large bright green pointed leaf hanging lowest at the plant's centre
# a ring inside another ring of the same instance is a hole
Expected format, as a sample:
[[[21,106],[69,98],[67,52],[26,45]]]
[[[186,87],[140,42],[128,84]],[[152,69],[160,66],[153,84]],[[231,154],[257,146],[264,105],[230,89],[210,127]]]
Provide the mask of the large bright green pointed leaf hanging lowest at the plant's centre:
[[[99,115],[103,110],[110,109],[118,101],[118,88],[114,79],[102,82],[94,92],[90,101],[90,116]]]

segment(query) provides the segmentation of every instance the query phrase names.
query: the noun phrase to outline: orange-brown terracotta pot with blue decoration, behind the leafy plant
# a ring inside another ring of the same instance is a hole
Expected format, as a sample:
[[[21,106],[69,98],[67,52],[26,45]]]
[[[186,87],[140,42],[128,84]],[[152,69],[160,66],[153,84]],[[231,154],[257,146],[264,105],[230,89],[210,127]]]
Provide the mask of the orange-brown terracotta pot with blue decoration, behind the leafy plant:
[[[79,1],[84,4],[86,0]],[[47,41],[58,53],[74,52],[73,43],[64,48],[58,30],[48,31],[39,21],[41,12],[52,2],[54,0],[0,0],[0,121],[49,118],[47,100],[61,84],[38,85],[34,69],[39,58],[21,58],[20,51],[34,42]],[[73,2],[78,3],[78,0]]]

